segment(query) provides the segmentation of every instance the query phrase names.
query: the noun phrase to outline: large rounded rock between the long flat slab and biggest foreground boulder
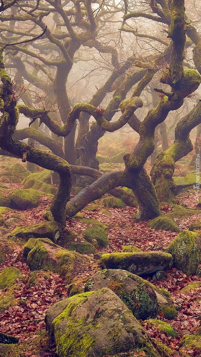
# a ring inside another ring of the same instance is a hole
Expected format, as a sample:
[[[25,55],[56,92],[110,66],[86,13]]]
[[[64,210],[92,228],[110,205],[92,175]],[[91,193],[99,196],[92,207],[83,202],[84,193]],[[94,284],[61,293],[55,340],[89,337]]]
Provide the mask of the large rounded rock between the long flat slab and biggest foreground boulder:
[[[174,307],[168,291],[126,270],[105,269],[97,272],[87,279],[85,292],[103,287],[114,291],[138,319],[156,317],[160,305]]]

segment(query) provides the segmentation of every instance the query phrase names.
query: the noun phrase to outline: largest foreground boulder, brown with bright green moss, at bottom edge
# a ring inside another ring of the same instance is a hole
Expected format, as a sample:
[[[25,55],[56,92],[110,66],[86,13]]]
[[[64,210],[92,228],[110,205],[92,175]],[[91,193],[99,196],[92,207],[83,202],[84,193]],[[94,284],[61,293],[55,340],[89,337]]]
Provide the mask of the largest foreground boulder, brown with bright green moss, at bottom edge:
[[[58,357],[114,356],[132,348],[159,356],[147,332],[108,288],[57,302],[47,310],[45,322]]]

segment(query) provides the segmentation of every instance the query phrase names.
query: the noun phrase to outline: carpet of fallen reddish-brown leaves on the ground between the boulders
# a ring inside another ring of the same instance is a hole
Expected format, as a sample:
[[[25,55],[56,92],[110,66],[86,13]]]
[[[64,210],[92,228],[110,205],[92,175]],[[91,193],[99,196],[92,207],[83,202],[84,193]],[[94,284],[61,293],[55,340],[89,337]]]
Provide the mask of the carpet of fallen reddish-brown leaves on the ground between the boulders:
[[[177,175],[181,175],[182,172],[186,171],[186,167],[184,166],[179,165],[177,167]],[[6,182],[6,186],[12,190],[21,188],[20,183],[13,184]],[[179,200],[192,208],[195,208],[197,203],[192,190],[183,193]],[[21,343],[19,345],[20,357],[56,357],[54,346],[49,346],[47,342],[44,316],[50,305],[67,297],[67,288],[64,281],[56,273],[50,272],[49,278],[45,280],[43,275],[38,272],[37,285],[27,289],[26,283],[30,270],[22,259],[22,250],[25,242],[19,239],[8,243],[7,233],[10,233],[16,226],[44,221],[43,213],[45,208],[49,206],[50,201],[50,198],[43,196],[41,204],[38,207],[26,211],[15,210],[22,214],[16,225],[11,226],[7,230],[0,226],[1,243],[4,242],[5,245],[9,244],[12,247],[10,253],[6,256],[6,260],[0,264],[0,272],[5,267],[14,266],[22,272],[24,277],[23,282],[18,281],[17,289],[13,293],[16,301],[26,300],[26,306],[17,304],[11,306],[5,313],[0,313],[0,332],[19,337],[19,343]],[[171,209],[172,207],[166,206],[162,213],[165,214]],[[122,209],[109,208],[108,210],[111,212],[111,216],[107,216],[99,211],[87,211],[86,209],[81,211],[84,217],[94,218],[109,226],[107,230],[109,246],[104,250],[106,252],[122,252],[122,246],[125,245],[135,245],[143,251],[164,251],[177,236],[177,233],[174,232],[155,230],[147,227],[147,221],[136,223],[131,218],[131,214],[136,212],[136,208],[125,206]],[[6,217],[9,218],[9,213],[6,213]],[[185,220],[177,220],[177,223],[180,229],[188,229],[190,223],[199,218],[201,218],[201,213]],[[81,222],[77,223],[74,218],[71,218],[67,220],[65,229],[64,234],[65,231],[73,231],[75,233],[75,240],[77,240],[77,237],[80,237],[82,231],[86,229],[86,225],[83,225]],[[98,250],[101,251],[100,248]],[[90,266],[87,266],[85,271],[82,270],[77,273],[79,285],[84,287],[86,278],[93,275],[99,269],[99,261],[94,260],[93,255],[91,255]],[[201,277],[197,275],[186,276],[176,268],[172,268],[168,271],[168,279],[164,282],[156,282],[152,280],[151,276],[145,278],[154,285],[167,289],[171,293],[174,302],[179,306],[178,315],[175,319],[165,320],[163,314],[159,316],[160,319],[170,323],[174,327],[178,333],[178,337],[167,337],[156,326],[151,326],[149,323],[143,324],[143,322],[142,324],[151,338],[157,338],[169,346],[172,351],[179,351],[182,336],[185,333],[193,333],[196,330],[200,325],[199,319],[201,315],[201,287],[197,287],[196,290],[191,289],[189,292],[181,292],[181,289],[189,283],[201,281]],[[19,356],[17,354],[19,351],[16,351],[16,356]],[[197,350],[183,348],[182,352],[186,353],[186,356],[196,356],[200,355],[201,351],[200,348],[197,348]],[[172,357],[178,356],[181,356],[179,352],[172,352]],[[12,357],[15,357],[15,354]]]

